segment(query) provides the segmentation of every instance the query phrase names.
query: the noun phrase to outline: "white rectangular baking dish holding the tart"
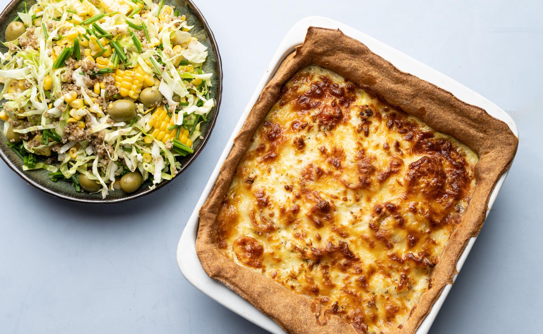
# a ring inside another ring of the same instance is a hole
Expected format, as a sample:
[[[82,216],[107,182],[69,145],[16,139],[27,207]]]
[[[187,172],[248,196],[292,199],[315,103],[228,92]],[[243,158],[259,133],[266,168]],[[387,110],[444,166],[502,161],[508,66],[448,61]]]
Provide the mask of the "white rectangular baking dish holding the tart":
[[[504,112],[501,108],[499,108],[489,100],[483,98],[481,95],[473,92],[467,87],[460,85],[458,82],[452,80],[451,78],[448,78],[444,74],[439,73],[437,70],[432,69],[424,65],[423,63],[414,60],[413,58],[393,49],[392,47],[387,46],[386,44],[383,44],[380,41],[375,40],[374,38],[371,38],[368,35],[361,33],[356,29],[348,27],[347,25],[339,23],[337,21],[330,20],[329,18],[311,16],[304,18],[303,20],[296,23],[285,36],[285,39],[283,39],[279,48],[277,48],[275,55],[271,59],[271,62],[266,69],[266,72],[262,76],[262,79],[256,87],[255,92],[252,94],[252,97],[247,104],[247,107],[245,107],[241,119],[239,119],[236,128],[233,130],[232,136],[230,137],[229,142],[226,144],[223,154],[217,162],[217,166],[213,170],[213,174],[211,175],[209,182],[207,182],[204,192],[201,195],[200,200],[198,201],[198,204],[194,209],[190,219],[188,220],[187,225],[185,226],[185,230],[181,235],[181,239],[179,240],[179,245],[177,249],[177,262],[179,265],[179,269],[181,270],[181,273],[185,276],[187,281],[189,281],[201,292],[204,292],[214,300],[218,301],[218,303],[228,307],[228,309],[236,312],[240,316],[248,319],[249,321],[257,324],[258,326],[261,326],[263,329],[266,329],[275,334],[285,333],[285,331],[283,331],[281,327],[277,325],[273,320],[258,311],[256,307],[252,306],[247,300],[238,296],[238,294],[229,290],[218,281],[208,277],[204,269],[201,267],[195,249],[195,241],[198,230],[198,211],[200,207],[204,204],[207,196],[209,196],[211,190],[213,189],[213,185],[215,184],[215,181],[219,175],[220,167],[230,153],[233,145],[233,139],[237,136],[237,133],[241,129],[249,111],[252,108],[252,105],[255,104],[264,86],[274,76],[277,68],[279,68],[279,65],[281,65],[281,62],[285,60],[285,58],[289,54],[294,52],[294,48],[296,46],[299,46],[300,44],[302,44],[302,42],[304,42],[307,28],[310,26],[333,29],[339,28],[343,31],[343,33],[361,41],[366,46],[368,46],[372,50],[372,52],[392,62],[394,66],[403,70],[404,72],[411,73],[421,79],[432,82],[433,84],[451,92],[462,101],[484,108],[490,115],[501,119],[507,125],[509,125],[509,128],[511,129],[511,131],[513,131],[515,136],[519,137],[519,132],[515,123],[513,122],[513,119],[506,112]],[[490,212],[490,208],[496,200],[498,191],[500,191],[500,188],[502,187],[503,181],[506,178],[508,172],[509,170],[503,173],[502,177],[497,182],[494,191],[490,195],[487,216]],[[468,254],[471,250],[471,247],[473,246],[473,243],[475,242],[475,239],[476,237],[472,237],[470,239],[470,241],[468,242],[468,246],[466,246],[465,251],[462,253],[462,256],[460,256],[460,259],[457,262],[458,271],[460,271],[460,268],[462,268],[464,261],[468,257]],[[456,277],[457,275],[454,275],[453,281],[456,280]],[[439,312],[441,305],[443,305],[447,294],[449,294],[451,286],[452,285],[450,284],[445,286],[443,292],[441,293],[441,296],[438,298],[437,301],[435,301],[434,305],[432,306],[432,310],[421,323],[419,329],[416,331],[416,334],[426,334],[430,330],[430,326],[434,322],[435,316],[437,316],[437,313]]]

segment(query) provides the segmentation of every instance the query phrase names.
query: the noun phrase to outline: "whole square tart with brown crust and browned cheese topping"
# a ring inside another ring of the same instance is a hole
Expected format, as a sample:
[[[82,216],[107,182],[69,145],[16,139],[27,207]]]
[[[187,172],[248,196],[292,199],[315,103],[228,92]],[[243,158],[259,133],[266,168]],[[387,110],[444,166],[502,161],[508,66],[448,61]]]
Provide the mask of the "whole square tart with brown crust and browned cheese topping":
[[[412,333],[516,146],[484,110],[310,28],[200,210],[199,258],[288,332]]]

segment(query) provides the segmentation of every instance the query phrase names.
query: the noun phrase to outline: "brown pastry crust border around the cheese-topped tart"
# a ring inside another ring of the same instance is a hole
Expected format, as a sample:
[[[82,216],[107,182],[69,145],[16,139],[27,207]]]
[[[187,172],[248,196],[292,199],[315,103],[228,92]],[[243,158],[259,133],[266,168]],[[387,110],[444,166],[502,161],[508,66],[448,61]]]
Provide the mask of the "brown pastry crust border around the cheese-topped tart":
[[[411,315],[394,333],[413,333],[440,296],[452,283],[456,262],[470,237],[476,236],[484,222],[491,191],[513,161],[518,139],[507,124],[490,116],[482,108],[466,104],[414,75],[402,72],[390,62],[372,53],[363,43],[340,30],[310,27],[304,43],[281,64],[252,107],[232,150],[226,158],[217,182],[200,209],[196,249],[206,273],[250,301],[290,333],[356,333],[339,316],[320,311],[320,305],[308,297],[288,291],[273,280],[239,266],[219,250],[216,220],[220,205],[239,159],[247,151],[250,138],[280,94],[283,85],[300,68],[310,64],[333,70],[378,98],[419,117],[434,130],[450,134],[476,151],[477,185],[462,222],[450,237],[439,263],[432,272],[432,287],[413,308]]]

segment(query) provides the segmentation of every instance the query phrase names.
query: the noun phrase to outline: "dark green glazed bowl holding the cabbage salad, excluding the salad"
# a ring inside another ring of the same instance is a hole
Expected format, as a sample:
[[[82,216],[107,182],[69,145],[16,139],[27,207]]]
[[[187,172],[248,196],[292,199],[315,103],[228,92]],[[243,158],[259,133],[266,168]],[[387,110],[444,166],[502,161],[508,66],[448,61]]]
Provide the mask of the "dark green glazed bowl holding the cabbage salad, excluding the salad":
[[[27,5],[35,4],[35,0],[27,0]],[[179,160],[181,163],[181,171],[190,166],[190,164],[196,159],[201,150],[204,149],[204,146],[211,135],[215,121],[217,120],[217,114],[219,112],[221,94],[223,91],[223,72],[220,63],[219,49],[217,48],[217,42],[213,37],[213,33],[209,28],[209,25],[205,21],[204,16],[201,14],[200,10],[194,5],[191,0],[165,0],[165,4],[175,6],[175,9],[179,10],[181,15],[187,17],[187,23],[189,25],[194,25],[191,33],[198,37],[198,41],[203,43],[208,49],[207,60],[204,63],[205,73],[213,73],[211,77],[211,84],[213,87],[210,90],[210,96],[215,100],[215,107],[209,113],[207,117],[208,121],[201,124],[201,133],[203,139],[197,139],[194,141],[194,153],[186,157],[181,157]],[[22,12],[24,10],[23,0],[13,0],[8,6],[4,9],[2,14],[0,14],[0,40],[4,41],[4,32],[8,24],[14,20],[17,16],[17,12]],[[2,53],[7,52],[7,48],[3,45],[0,45],[0,51]],[[0,91],[3,88],[3,84],[0,84]],[[0,103],[5,100],[0,100]],[[0,126],[2,121],[0,121]],[[0,128],[2,129],[2,128]],[[69,182],[52,182],[46,170],[30,170],[23,171],[22,169],[22,160],[19,158],[15,152],[13,152],[10,147],[6,144],[6,138],[3,133],[0,131],[0,157],[8,164],[16,174],[22,177],[30,185],[33,185],[35,188],[40,189],[41,191],[46,192],[49,195],[53,195],[63,200],[80,202],[80,203],[119,203],[128,200],[132,200],[136,197],[141,197],[143,195],[150,194],[150,192],[156,191],[164,187],[169,182],[174,182],[179,177],[174,177],[171,180],[163,180],[161,183],[157,184],[154,189],[149,189],[149,186],[153,183],[148,179],[143,185],[135,192],[131,194],[126,194],[122,190],[110,190],[108,196],[102,199],[102,195],[98,194],[89,194],[89,192],[77,192],[72,186],[72,183]],[[178,174],[179,176],[179,174]],[[3,175],[2,177],[8,177]]]

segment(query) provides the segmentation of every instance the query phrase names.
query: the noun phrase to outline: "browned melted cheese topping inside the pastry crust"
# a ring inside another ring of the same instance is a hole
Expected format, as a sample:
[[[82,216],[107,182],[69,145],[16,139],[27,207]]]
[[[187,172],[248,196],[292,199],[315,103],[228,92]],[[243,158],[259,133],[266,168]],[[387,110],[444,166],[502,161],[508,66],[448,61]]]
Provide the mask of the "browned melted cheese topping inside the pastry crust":
[[[402,324],[475,188],[477,155],[337,73],[299,70],[237,166],[217,242],[360,332]]]

